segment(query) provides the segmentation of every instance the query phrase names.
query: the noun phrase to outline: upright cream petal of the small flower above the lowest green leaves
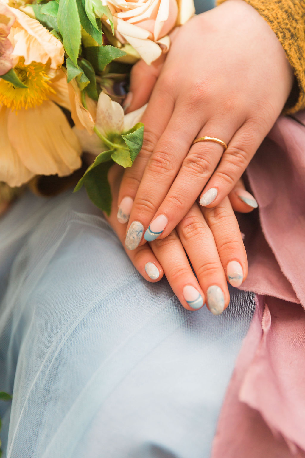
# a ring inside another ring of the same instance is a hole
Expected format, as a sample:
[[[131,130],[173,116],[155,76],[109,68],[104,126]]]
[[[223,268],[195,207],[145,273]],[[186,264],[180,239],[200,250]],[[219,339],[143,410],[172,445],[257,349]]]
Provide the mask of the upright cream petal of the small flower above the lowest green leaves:
[[[121,133],[123,131],[124,110],[118,102],[101,92],[96,109],[96,129],[103,136],[108,133]]]

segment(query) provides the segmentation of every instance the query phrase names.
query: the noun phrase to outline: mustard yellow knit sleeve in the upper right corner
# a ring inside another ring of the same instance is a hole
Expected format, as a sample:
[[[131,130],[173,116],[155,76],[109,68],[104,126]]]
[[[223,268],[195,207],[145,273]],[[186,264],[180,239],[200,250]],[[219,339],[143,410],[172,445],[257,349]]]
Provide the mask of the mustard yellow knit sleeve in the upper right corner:
[[[218,0],[217,4],[225,0]],[[305,0],[244,0],[253,6],[278,36],[294,68],[294,87],[286,113],[305,108]]]

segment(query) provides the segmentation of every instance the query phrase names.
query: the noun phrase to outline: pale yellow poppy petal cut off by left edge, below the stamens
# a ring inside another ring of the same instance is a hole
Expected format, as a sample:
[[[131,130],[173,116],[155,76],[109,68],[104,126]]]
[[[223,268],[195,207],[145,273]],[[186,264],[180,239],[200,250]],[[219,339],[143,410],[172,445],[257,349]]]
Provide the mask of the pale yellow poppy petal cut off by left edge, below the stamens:
[[[7,135],[7,118],[10,112],[8,108],[0,107],[0,181],[14,187],[26,183],[34,174],[22,163]]]

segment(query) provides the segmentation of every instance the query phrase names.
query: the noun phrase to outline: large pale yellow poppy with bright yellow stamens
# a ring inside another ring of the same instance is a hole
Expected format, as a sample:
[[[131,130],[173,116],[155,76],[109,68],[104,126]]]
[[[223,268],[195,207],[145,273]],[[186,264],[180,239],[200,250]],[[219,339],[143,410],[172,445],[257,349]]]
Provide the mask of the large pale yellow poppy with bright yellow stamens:
[[[63,45],[37,20],[8,8],[16,17],[8,35],[12,65],[27,87],[0,78],[0,181],[20,186],[37,174],[72,173],[81,147],[58,106],[71,111],[73,95],[61,69]]]

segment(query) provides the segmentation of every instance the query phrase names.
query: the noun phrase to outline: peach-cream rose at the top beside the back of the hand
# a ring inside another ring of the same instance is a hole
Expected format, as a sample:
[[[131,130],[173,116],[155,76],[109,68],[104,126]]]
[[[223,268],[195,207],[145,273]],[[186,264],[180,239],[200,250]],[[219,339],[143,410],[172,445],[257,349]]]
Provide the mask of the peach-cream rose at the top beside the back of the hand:
[[[112,12],[117,38],[131,44],[147,64],[168,50],[172,28],[195,12],[193,0],[104,0],[103,4]]]

